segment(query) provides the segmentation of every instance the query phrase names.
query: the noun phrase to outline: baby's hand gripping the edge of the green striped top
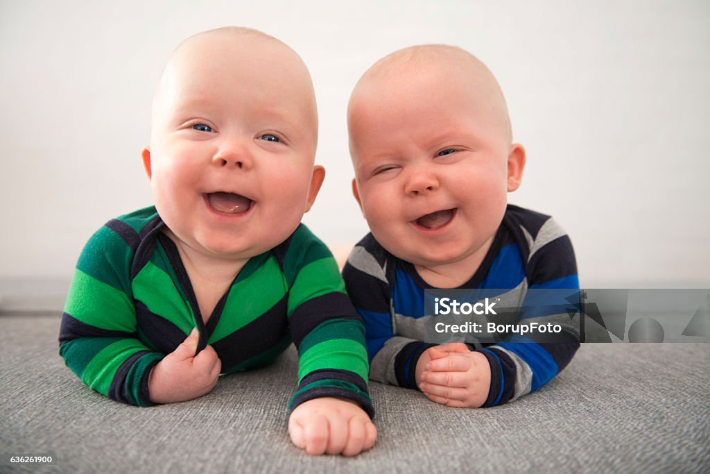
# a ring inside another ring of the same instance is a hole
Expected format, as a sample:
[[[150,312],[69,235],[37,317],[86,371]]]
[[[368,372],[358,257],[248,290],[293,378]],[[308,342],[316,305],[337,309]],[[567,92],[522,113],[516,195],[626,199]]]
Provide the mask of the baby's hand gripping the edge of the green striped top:
[[[148,376],[148,394],[153,403],[185,402],[202,397],[217,384],[222,361],[211,345],[199,354],[197,329],[178,348],[158,362]]]

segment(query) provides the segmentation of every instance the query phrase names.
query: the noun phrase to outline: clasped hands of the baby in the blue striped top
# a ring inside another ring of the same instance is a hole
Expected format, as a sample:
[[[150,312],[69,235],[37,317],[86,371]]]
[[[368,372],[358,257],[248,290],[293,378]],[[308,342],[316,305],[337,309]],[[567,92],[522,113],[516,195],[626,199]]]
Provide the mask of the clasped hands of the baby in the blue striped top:
[[[442,405],[471,408],[486,403],[491,389],[491,365],[485,355],[469,351],[463,343],[429,348],[425,354],[428,360],[422,362],[424,367],[417,383],[428,399]]]

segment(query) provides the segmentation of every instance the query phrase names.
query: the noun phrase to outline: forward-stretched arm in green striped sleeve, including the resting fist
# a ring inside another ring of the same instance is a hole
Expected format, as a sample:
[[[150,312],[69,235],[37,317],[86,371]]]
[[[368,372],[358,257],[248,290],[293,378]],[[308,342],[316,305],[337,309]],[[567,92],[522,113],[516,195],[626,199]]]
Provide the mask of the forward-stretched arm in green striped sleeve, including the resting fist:
[[[371,448],[377,436],[364,328],[328,249],[312,236],[297,247],[300,238],[309,237],[303,230],[294,235],[284,261],[285,269],[297,269],[288,296],[299,357],[289,433],[309,454],[355,456]]]

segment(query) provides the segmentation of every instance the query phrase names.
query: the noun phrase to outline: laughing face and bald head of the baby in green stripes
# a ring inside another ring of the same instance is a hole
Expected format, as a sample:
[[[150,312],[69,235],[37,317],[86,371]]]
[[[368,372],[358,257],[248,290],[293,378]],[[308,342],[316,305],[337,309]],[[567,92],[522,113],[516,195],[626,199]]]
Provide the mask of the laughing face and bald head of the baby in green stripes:
[[[173,234],[202,254],[244,259],[283,242],[315,198],[317,116],[292,51],[220,34],[188,41],[168,63],[143,158]]]

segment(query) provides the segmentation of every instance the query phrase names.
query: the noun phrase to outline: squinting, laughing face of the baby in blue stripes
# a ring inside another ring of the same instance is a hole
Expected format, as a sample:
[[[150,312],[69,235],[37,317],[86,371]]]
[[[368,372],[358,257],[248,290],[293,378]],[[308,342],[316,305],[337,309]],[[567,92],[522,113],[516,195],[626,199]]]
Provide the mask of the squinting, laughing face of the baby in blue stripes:
[[[476,89],[455,67],[420,68],[371,78],[351,100],[356,198],[378,242],[415,266],[485,252],[517,188],[507,114]]]

